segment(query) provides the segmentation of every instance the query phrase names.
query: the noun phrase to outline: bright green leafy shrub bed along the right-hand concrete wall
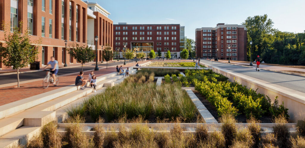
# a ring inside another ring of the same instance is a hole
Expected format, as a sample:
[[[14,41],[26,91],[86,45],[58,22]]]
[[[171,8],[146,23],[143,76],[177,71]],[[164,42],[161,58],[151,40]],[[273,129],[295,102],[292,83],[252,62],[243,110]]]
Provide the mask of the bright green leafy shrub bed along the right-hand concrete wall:
[[[222,114],[233,114],[237,115],[236,112],[226,112],[230,110],[228,102],[231,101],[234,107],[242,114],[245,114],[247,118],[253,115],[255,118],[260,118],[262,115],[273,115],[277,117],[280,114],[284,114],[288,119],[288,109],[283,105],[278,105],[277,98],[274,104],[271,104],[269,97],[264,94],[257,93],[257,90],[248,89],[246,86],[234,82],[228,81],[228,78],[212,72],[212,70],[185,70],[186,79],[194,83],[195,88],[207,97],[216,108],[218,115]],[[199,82],[202,82],[199,83]],[[211,92],[208,92],[211,91]],[[214,98],[211,98],[214,97]],[[215,99],[221,101],[215,104]],[[223,104],[219,104],[219,103]],[[226,109],[220,109],[224,106]]]

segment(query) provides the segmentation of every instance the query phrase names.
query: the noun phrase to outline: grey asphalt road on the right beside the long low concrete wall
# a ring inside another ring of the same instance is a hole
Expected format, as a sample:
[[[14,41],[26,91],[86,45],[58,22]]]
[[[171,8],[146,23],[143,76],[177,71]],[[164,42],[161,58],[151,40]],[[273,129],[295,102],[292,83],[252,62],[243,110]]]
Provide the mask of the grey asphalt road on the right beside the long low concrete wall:
[[[211,61],[201,60],[200,62],[211,65]],[[248,68],[237,65],[230,65],[225,63],[213,62],[213,66],[217,66],[221,69],[231,70],[246,76],[250,76],[256,79],[260,79],[269,84],[276,84],[292,90],[305,93],[305,77],[289,75],[285,73],[271,72],[267,70],[256,71],[255,68]]]

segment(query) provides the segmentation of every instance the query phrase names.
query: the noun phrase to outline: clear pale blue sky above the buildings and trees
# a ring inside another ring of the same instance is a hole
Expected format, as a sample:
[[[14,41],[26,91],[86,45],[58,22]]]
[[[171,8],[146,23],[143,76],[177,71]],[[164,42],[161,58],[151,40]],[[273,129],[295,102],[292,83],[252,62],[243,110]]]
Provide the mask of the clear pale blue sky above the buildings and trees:
[[[87,1],[87,0],[84,0]],[[280,31],[305,30],[305,0],[88,0],[111,14],[113,24],[180,24],[185,36],[217,23],[241,24],[248,16],[267,14]]]

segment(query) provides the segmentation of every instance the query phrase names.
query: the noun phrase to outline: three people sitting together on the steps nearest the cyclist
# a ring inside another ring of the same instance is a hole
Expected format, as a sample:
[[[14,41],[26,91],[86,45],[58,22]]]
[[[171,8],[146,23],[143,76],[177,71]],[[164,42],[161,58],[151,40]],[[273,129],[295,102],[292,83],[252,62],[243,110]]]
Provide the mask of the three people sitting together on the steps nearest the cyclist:
[[[81,86],[80,90],[84,90],[86,83],[89,82],[90,86],[93,88],[92,92],[96,92],[96,88],[95,88],[96,87],[96,76],[94,75],[94,72],[91,71],[89,73],[88,79],[84,79],[83,75],[84,75],[84,72],[81,71],[75,79],[75,85],[77,86],[77,90],[78,90],[78,86]]]

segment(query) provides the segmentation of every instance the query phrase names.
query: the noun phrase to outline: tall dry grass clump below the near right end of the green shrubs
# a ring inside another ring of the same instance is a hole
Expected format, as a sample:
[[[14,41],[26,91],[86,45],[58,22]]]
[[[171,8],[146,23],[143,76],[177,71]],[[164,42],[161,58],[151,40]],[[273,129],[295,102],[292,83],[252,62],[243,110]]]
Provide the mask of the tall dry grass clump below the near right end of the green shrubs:
[[[273,127],[273,133],[277,139],[279,147],[287,147],[289,145],[289,128],[287,127],[287,120],[285,115],[280,115],[274,118],[275,123]]]

